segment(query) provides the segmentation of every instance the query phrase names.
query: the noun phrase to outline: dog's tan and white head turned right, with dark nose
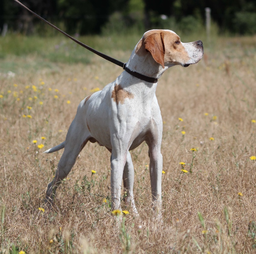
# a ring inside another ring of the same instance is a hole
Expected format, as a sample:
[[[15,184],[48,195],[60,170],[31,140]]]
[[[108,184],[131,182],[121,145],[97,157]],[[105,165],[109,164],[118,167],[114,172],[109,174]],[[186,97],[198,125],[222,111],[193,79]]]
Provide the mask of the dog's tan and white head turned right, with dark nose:
[[[163,68],[173,65],[188,67],[199,62],[204,54],[202,41],[183,43],[171,30],[146,32],[138,43],[136,51],[139,54],[143,51],[144,54],[150,52],[154,60]]]

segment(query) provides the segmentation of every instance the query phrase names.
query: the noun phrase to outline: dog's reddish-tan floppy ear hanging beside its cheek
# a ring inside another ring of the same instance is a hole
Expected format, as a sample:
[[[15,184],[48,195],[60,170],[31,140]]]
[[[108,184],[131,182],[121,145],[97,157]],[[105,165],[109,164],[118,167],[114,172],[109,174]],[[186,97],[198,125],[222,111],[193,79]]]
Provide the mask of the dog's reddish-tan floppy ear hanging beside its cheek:
[[[164,68],[165,49],[163,37],[162,33],[148,35],[144,40],[144,46],[151,53],[154,60]]]

